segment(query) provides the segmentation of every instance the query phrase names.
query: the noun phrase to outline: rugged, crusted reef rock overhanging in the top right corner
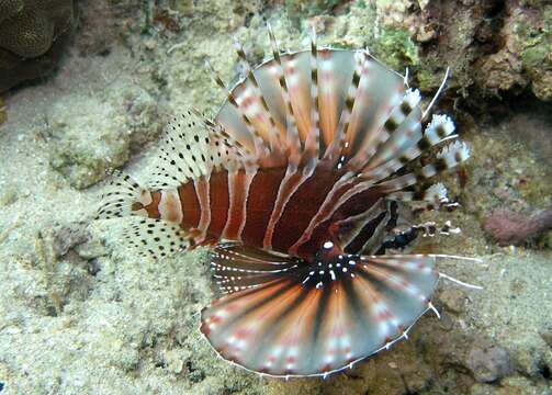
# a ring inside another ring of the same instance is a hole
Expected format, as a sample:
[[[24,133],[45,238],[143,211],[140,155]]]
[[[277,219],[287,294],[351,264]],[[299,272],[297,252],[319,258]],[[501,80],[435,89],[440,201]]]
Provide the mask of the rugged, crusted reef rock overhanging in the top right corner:
[[[470,102],[520,94],[530,87],[552,98],[552,5],[545,2],[375,1],[382,30],[408,33],[419,61],[414,74],[424,91],[452,68],[450,87]]]

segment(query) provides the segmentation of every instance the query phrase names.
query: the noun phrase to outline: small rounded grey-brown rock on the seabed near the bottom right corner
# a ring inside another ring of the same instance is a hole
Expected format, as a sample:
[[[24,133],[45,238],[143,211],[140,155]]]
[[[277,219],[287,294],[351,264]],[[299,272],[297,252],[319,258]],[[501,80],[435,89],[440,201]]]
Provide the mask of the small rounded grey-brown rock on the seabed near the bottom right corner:
[[[470,350],[466,362],[474,379],[480,383],[495,382],[511,372],[508,351],[496,346]]]

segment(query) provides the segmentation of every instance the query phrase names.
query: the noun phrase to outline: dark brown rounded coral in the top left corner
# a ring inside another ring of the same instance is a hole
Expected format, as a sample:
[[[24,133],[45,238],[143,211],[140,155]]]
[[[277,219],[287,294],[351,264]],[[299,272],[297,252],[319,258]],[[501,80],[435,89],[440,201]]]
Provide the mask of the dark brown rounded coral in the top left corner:
[[[0,4],[0,92],[52,70],[71,33],[72,0]]]

